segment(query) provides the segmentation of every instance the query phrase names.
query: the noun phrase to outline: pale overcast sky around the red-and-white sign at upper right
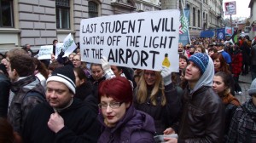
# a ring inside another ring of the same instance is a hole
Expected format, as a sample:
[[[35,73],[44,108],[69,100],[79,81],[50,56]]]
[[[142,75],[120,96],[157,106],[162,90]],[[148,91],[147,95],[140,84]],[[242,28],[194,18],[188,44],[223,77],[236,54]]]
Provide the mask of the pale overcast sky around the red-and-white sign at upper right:
[[[236,14],[232,14],[232,18],[233,17],[248,18],[250,16],[250,9],[248,8],[248,6],[251,0],[224,0],[223,6],[224,6],[224,3],[226,2],[234,2],[234,1],[236,1]],[[225,9],[224,9],[224,18],[230,18],[230,15],[225,15]]]

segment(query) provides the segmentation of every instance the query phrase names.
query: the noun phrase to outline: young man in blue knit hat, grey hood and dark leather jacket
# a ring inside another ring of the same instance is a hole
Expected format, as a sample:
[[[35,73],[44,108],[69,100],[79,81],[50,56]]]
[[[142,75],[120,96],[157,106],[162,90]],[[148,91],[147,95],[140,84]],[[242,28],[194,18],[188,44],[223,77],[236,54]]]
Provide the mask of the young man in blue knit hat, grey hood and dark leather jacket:
[[[178,133],[168,142],[222,142],[224,137],[224,105],[212,90],[214,66],[207,54],[193,54],[189,58],[185,79],[189,84],[183,94],[183,113],[177,128],[166,134]]]

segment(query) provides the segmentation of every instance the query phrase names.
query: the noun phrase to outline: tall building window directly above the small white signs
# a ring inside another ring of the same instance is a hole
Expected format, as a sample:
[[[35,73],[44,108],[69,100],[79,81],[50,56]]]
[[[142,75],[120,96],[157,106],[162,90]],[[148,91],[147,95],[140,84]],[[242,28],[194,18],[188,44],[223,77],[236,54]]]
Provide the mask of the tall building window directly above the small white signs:
[[[56,0],[56,24],[58,29],[70,29],[69,0]]]

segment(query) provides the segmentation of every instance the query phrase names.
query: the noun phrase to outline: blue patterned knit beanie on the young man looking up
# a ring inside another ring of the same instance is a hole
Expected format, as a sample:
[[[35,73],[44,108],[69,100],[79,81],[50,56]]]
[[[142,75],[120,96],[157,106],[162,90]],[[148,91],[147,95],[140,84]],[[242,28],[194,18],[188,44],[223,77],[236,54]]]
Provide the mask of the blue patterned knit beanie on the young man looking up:
[[[209,56],[207,54],[196,53],[189,57],[189,61],[193,61],[199,67],[201,74],[203,74],[207,69]]]

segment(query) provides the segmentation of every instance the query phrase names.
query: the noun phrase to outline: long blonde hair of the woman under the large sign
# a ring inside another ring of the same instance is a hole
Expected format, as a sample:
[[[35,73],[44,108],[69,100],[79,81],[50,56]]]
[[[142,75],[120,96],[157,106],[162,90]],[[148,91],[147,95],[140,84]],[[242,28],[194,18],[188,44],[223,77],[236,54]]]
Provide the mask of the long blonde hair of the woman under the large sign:
[[[148,88],[147,88],[147,83],[145,81],[144,78],[144,72],[145,70],[143,70],[142,72],[142,76],[138,82],[138,86],[137,86],[137,94],[136,94],[136,98],[137,98],[137,102],[142,104],[147,102],[148,99]],[[156,79],[155,79],[155,83],[154,83],[154,87],[152,89],[152,92],[149,94],[149,100],[151,101],[151,103],[156,106],[157,103],[157,94],[159,92],[161,92],[162,96],[161,96],[161,106],[165,106],[166,105],[166,95],[165,95],[165,87],[163,86],[163,81],[162,81],[162,77],[160,75],[160,72],[154,72]]]

